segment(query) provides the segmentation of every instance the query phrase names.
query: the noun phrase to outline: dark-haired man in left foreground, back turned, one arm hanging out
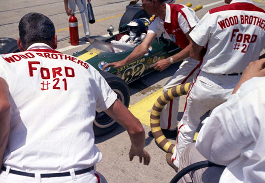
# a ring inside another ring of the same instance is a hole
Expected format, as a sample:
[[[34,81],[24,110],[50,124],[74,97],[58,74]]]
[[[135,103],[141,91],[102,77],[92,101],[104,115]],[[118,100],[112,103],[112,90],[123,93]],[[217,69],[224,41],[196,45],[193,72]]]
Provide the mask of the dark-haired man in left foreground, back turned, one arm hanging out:
[[[97,183],[94,165],[102,154],[94,144],[95,111],[126,128],[130,160],[139,156],[149,164],[139,120],[91,65],[54,50],[57,36],[48,17],[26,14],[19,37],[21,52],[0,55],[0,124],[10,122],[10,132],[0,128],[0,134],[9,132],[0,149],[0,183]]]

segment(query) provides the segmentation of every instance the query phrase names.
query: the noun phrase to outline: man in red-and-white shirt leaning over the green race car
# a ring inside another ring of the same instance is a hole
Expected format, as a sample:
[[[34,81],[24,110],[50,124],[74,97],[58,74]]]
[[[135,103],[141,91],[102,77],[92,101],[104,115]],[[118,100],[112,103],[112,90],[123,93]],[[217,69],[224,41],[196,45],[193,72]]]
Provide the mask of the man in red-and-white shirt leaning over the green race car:
[[[189,58],[190,37],[188,34],[199,21],[194,10],[181,4],[167,4],[164,0],[142,0],[142,2],[142,8],[145,9],[148,14],[156,15],[148,28],[146,38],[127,58],[122,61],[108,63],[103,66],[103,69],[110,66],[114,68],[122,67],[125,64],[139,59],[148,51],[154,39],[161,36],[163,33],[165,38],[171,39],[175,44],[179,45],[182,50],[170,58],[158,61],[154,64],[154,68],[162,71],[172,63],[185,59],[174,76],[164,86],[163,92],[173,86],[192,81],[199,63],[199,61]],[[179,98],[176,98],[168,103],[161,114],[160,124],[167,138],[176,138],[177,136],[178,101]],[[151,131],[148,134],[153,136]]]

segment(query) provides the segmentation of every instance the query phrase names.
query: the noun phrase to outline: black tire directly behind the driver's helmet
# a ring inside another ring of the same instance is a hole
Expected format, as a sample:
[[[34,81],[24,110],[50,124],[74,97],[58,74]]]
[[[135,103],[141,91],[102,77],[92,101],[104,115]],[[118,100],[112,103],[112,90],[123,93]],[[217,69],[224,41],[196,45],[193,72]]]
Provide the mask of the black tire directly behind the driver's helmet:
[[[143,17],[150,18],[151,16],[142,9],[141,5],[135,4],[126,6],[126,11],[120,19],[119,32],[127,30],[126,24],[133,19],[139,19]]]

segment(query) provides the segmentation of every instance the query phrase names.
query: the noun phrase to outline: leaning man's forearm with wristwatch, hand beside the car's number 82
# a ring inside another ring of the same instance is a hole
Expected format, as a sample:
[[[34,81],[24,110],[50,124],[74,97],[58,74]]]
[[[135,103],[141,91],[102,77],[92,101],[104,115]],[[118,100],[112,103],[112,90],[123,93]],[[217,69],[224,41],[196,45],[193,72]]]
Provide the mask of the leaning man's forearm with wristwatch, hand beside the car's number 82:
[[[190,31],[192,30],[193,28],[190,29]],[[189,45],[186,46],[186,48],[184,48],[183,50],[181,50],[180,52],[178,52],[176,55],[172,56],[172,59],[173,59],[173,63],[176,63],[178,61],[182,61],[183,59],[186,59],[187,57],[189,57],[189,50],[191,48],[191,38],[189,37],[189,33],[190,31],[188,31],[185,35],[187,37],[187,39],[189,40]],[[158,62],[156,62],[154,64],[154,68],[156,70],[159,70],[159,71],[162,71],[164,69],[166,69],[168,66],[170,66],[172,63],[170,62],[170,58],[167,58],[167,59],[162,59]]]

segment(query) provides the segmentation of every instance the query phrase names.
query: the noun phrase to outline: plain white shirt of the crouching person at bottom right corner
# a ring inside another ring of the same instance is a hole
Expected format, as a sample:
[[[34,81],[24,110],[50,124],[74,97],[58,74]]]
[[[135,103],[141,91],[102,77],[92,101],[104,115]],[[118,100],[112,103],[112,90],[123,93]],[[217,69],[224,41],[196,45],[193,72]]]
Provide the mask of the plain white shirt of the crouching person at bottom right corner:
[[[203,121],[196,148],[225,165],[219,183],[265,183],[265,77],[244,82]]]

